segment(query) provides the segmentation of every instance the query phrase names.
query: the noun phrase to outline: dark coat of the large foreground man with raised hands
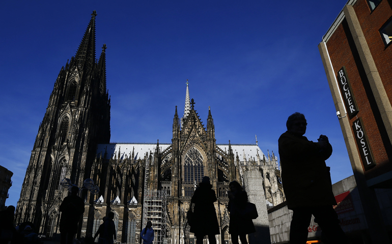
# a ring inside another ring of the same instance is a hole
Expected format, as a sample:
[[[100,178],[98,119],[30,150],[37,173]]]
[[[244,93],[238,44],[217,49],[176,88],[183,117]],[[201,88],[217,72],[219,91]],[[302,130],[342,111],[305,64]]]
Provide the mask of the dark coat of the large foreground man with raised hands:
[[[325,164],[332,146],[327,143],[321,147],[318,142],[288,131],[279,137],[278,143],[288,208],[336,205],[329,167]]]

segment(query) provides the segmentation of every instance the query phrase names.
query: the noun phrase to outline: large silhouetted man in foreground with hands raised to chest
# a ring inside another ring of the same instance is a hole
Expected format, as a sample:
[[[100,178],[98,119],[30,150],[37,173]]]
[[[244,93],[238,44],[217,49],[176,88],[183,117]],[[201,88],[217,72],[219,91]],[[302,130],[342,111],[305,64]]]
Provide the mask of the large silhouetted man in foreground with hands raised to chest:
[[[287,207],[293,210],[290,243],[305,244],[312,214],[327,238],[324,243],[347,243],[346,235],[333,210],[337,205],[332,192],[329,167],[325,160],[332,154],[328,137],[318,142],[307,140],[306,119],[294,113],[287,119],[287,131],[278,140],[281,157],[282,184]]]

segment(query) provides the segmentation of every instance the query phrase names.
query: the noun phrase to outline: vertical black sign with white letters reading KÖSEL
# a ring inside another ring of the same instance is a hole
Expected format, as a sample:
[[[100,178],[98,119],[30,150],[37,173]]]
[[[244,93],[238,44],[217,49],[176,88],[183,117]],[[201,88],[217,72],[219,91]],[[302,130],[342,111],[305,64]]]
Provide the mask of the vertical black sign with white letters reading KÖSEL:
[[[363,128],[362,119],[360,117],[354,120],[352,129],[354,130],[354,136],[359,148],[359,155],[361,156],[363,167],[365,167],[366,170],[376,165],[376,162],[374,161],[368,136],[366,135],[365,128]]]

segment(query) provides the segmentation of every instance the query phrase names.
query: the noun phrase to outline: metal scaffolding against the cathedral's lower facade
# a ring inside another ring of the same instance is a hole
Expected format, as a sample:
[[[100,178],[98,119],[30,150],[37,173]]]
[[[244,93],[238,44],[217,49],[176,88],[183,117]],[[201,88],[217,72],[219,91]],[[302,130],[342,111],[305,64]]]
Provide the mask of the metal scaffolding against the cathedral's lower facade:
[[[169,218],[166,213],[166,191],[148,190],[149,171],[150,162],[147,159],[144,184],[143,226],[146,226],[147,222],[151,221],[155,232],[154,243],[168,244],[171,243],[171,239],[170,237],[166,238],[166,224],[169,224]]]

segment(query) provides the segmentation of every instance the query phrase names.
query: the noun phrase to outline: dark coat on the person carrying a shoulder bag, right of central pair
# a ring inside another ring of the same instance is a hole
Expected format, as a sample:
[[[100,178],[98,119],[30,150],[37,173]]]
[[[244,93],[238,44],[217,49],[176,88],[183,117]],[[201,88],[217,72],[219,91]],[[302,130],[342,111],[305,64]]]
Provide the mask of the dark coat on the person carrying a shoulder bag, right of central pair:
[[[232,192],[234,197],[229,197],[228,209],[230,212],[229,233],[230,234],[249,234],[256,232],[251,219],[243,218],[238,210],[244,209],[248,201],[245,191]]]

